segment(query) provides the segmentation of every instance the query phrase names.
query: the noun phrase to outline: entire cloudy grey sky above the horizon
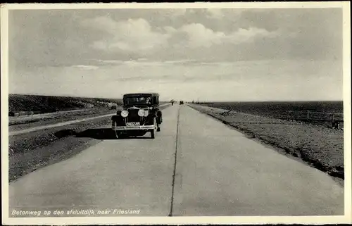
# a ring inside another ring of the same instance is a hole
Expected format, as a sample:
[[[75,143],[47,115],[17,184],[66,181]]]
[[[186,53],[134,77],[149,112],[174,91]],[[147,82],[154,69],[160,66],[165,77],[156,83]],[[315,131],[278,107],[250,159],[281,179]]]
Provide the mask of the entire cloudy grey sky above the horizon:
[[[9,11],[9,92],[342,100],[341,8]]]

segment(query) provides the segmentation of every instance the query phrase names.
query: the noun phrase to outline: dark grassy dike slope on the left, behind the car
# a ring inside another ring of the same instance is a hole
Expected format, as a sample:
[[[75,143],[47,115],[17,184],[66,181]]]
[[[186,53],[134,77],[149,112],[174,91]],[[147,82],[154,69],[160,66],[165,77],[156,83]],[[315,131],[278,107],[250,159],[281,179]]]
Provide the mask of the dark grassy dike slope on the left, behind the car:
[[[70,96],[38,96],[38,95],[8,95],[8,113],[51,113],[56,111],[68,111],[83,108],[108,108],[120,105],[120,99],[83,98]]]

